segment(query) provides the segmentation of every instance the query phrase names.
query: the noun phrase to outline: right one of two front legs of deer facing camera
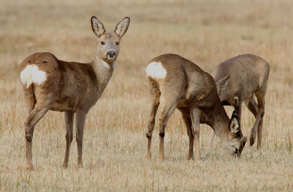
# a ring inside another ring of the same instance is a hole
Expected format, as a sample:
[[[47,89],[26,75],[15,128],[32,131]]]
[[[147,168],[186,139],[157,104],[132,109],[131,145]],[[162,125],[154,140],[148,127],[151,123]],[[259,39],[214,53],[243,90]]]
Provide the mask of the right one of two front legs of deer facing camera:
[[[75,129],[76,129],[76,143],[77,143],[77,166],[82,167],[82,139],[83,139],[83,128],[84,121],[87,115],[86,110],[77,109],[75,115]]]

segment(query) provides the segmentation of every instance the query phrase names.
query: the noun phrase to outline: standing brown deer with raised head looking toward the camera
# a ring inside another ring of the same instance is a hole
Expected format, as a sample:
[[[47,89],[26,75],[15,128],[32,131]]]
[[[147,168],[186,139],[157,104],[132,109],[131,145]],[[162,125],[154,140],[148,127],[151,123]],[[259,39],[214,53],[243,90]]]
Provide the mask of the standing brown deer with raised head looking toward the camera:
[[[19,66],[28,117],[25,120],[26,169],[33,169],[32,141],[35,124],[48,112],[64,111],[66,148],[63,168],[68,166],[75,114],[77,165],[82,167],[84,121],[89,109],[103,93],[113,73],[119,43],[130,23],[123,18],[114,31],[105,31],[98,18],[92,17],[98,46],[90,63],[65,62],[51,53],[35,53]]]

